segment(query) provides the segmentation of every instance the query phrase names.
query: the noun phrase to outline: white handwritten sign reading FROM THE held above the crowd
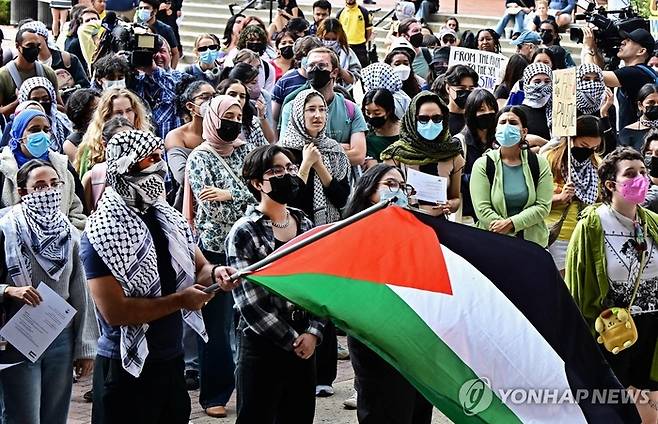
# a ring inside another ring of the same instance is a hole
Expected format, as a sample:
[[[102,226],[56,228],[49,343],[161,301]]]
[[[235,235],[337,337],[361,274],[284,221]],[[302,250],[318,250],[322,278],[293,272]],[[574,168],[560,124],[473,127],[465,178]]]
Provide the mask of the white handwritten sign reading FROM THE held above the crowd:
[[[478,85],[493,92],[503,78],[507,58],[498,53],[450,47],[448,67],[453,65],[466,65],[473,68],[480,77]]]

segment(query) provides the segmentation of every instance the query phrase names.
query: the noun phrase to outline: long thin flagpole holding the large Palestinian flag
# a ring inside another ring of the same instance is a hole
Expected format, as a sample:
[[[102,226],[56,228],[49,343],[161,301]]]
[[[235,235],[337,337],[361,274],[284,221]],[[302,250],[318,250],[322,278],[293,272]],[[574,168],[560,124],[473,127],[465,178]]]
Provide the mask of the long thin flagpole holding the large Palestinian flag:
[[[324,230],[318,231],[317,233],[313,234],[312,236],[307,237],[304,240],[301,240],[299,243],[295,243],[291,246],[288,246],[286,248],[283,248],[281,250],[273,252],[271,255],[268,255],[267,257],[261,259],[260,261],[254,263],[252,265],[249,265],[248,267],[246,267],[244,269],[241,269],[238,272],[236,272],[235,274],[231,275],[230,279],[231,279],[231,281],[234,281],[234,280],[237,280],[239,278],[244,277],[245,275],[251,274],[252,272],[254,272],[254,271],[256,271],[256,270],[258,270],[258,269],[260,269],[260,268],[262,268],[266,265],[269,265],[272,262],[283,258],[284,256],[288,256],[289,254],[294,253],[294,252],[298,251],[299,249],[308,246],[309,244],[315,243],[316,241],[318,241],[318,240],[320,240],[320,239],[322,239],[322,238],[324,238],[324,237],[326,237],[330,234],[333,234],[336,231],[341,230],[341,229],[347,227],[348,225],[351,225],[351,224],[355,223],[356,221],[359,221],[359,220],[361,220],[361,219],[363,219],[367,216],[372,215],[375,212],[378,212],[378,211],[386,208],[387,206],[391,205],[395,201],[397,201],[397,197],[393,197],[393,198],[388,199],[388,200],[382,200],[381,202],[376,203],[376,204],[370,206],[369,208],[364,209],[361,212],[350,216],[349,218],[338,221],[335,224],[328,226]],[[219,283],[212,284],[212,285],[206,287],[203,291],[205,293],[212,293],[212,292],[216,291],[217,289],[219,289]]]

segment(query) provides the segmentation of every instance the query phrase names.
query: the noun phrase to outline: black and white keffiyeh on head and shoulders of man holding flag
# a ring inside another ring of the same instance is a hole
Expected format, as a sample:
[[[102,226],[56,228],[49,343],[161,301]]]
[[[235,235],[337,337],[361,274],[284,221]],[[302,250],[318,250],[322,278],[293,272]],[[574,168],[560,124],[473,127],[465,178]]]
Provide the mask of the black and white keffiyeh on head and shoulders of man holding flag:
[[[129,297],[161,295],[153,239],[146,224],[122,195],[130,192],[125,179],[129,170],[158,148],[162,148],[162,139],[142,131],[131,130],[112,137],[106,150],[108,187],[85,229],[89,242]],[[176,291],[183,290],[192,286],[195,280],[192,232],[183,215],[164,200],[155,202],[152,207],[169,240],[171,265],[176,272]],[[186,310],[182,313],[185,322],[207,341],[201,313]],[[122,365],[135,377],[141,373],[149,353],[148,328],[148,324],[121,326]]]

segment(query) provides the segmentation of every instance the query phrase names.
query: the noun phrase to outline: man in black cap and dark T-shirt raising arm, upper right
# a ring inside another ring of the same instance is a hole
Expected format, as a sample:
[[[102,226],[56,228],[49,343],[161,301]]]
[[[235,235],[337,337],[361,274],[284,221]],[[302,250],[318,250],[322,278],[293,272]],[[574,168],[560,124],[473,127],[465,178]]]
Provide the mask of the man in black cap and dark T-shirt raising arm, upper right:
[[[637,96],[644,84],[653,83],[658,74],[646,63],[653,55],[656,42],[645,29],[636,29],[629,33],[620,31],[623,38],[617,57],[624,61],[624,67],[614,71],[603,71],[603,81],[610,88],[618,87],[619,128],[631,124],[638,116]],[[596,38],[591,28],[583,28],[583,63],[604,66],[603,56],[596,45]]]

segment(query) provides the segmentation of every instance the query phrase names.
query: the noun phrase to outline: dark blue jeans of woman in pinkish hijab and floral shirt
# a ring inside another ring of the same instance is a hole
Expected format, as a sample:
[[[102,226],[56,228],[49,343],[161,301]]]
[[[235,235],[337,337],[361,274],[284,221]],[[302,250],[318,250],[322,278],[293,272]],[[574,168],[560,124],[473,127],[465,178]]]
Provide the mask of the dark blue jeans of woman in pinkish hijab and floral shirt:
[[[222,254],[201,248],[210,263],[226,264]],[[235,389],[235,362],[231,348],[233,294],[217,292],[201,310],[208,332],[208,343],[199,341],[199,403],[203,409],[226,406]]]

